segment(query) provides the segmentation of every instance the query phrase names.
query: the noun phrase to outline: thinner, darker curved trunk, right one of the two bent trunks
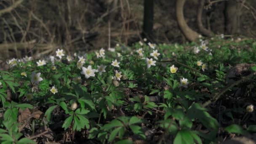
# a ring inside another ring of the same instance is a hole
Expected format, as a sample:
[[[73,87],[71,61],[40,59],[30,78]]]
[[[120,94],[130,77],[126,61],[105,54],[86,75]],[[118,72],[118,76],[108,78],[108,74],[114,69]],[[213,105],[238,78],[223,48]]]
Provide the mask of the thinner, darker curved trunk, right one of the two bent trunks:
[[[197,25],[198,25],[200,32],[202,32],[203,35],[212,37],[214,35],[213,32],[211,32],[211,30],[208,30],[205,27],[203,27],[203,23],[202,23],[202,13],[203,13],[204,4],[205,4],[205,0],[199,0],[198,8],[197,8]]]

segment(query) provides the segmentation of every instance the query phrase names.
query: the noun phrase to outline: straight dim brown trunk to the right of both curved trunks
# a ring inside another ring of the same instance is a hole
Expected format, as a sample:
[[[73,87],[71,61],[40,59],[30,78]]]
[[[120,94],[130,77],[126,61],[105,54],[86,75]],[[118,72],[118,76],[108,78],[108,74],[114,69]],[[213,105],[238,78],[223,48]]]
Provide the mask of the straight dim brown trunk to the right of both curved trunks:
[[[238,28],[238,8],[239,3],[235,0],[225,2],[225,34],[233,35]]]

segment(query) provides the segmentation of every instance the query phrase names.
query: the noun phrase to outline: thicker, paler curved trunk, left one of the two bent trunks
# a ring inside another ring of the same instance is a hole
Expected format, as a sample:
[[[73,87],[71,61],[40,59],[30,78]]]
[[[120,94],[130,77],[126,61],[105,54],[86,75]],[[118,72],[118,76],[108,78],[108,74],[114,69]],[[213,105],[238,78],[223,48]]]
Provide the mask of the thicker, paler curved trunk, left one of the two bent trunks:
[[[184,14],[183,14],[183,7],[186,0],[176,0],[176,18],[181,29],[183,35],[190,41],[195,41],[199,37],[199,34],[194,30],[190,29],[187,25]]]

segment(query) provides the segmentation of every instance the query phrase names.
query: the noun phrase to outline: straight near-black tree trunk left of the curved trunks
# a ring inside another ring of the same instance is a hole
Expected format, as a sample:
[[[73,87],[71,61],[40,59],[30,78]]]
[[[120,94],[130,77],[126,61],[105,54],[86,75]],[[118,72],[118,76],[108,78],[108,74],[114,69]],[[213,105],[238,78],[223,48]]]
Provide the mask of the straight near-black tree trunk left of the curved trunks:
[[[144,19],[142,37],[152,40],[154,22],[154,0],[144,0]]]

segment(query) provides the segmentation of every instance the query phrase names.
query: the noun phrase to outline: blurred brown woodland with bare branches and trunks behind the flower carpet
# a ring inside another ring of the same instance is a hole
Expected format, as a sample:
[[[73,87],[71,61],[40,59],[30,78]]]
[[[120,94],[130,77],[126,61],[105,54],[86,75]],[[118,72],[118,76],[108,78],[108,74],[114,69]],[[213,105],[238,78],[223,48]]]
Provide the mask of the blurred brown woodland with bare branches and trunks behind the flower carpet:
[[[0,59],[199,35],[256,37],[256,0],[0,0]]]

